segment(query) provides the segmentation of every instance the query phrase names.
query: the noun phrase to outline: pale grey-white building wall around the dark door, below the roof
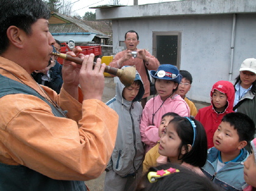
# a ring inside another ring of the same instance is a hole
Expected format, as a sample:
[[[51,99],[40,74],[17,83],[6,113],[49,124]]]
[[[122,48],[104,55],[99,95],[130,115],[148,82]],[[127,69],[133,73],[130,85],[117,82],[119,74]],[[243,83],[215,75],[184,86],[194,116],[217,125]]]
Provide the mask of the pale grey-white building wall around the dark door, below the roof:
[[[229,80],[233,14],[186,15],[122,19],[113,21],[113,54],[128,30],[140,36],[138,48],[152,54],[152,32],[179,31],[181,36],[180,69],[189,71],[193,84],[188,97],[210,102],[210,90],[218,80]],[[256,14],[236,15],[232,80],[239,74],[242,61],[256,57]]]

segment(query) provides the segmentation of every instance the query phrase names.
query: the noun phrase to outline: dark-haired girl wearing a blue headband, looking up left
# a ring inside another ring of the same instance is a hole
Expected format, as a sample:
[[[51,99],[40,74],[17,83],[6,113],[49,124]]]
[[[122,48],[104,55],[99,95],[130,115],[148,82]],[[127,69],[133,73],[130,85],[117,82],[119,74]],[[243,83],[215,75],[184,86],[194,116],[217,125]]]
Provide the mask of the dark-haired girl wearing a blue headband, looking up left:
[[[202,124],[190,117],[174,117],[164,130],[158,148],[160,154],[152,166],[172,162],[203,175],[207,159],[207,138]]]

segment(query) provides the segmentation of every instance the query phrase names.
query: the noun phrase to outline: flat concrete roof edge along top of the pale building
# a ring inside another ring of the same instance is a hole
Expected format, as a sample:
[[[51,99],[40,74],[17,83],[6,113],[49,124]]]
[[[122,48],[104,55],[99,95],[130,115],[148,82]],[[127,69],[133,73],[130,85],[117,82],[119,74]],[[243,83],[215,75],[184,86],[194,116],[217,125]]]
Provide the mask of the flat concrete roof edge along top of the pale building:
[[[254,0],[183,0],[96,10],[96,19],[255,13]]]

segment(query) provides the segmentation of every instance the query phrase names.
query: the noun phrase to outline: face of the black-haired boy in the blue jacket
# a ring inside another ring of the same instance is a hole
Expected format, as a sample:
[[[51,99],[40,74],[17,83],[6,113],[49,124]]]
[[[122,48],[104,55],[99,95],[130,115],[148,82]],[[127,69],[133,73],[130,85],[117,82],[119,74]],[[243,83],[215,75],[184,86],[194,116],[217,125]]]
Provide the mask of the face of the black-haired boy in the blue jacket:
[[[240,148],[237,131],[229,122],[221,122],[213,136],[213,144],[222,153],[233,153]]]

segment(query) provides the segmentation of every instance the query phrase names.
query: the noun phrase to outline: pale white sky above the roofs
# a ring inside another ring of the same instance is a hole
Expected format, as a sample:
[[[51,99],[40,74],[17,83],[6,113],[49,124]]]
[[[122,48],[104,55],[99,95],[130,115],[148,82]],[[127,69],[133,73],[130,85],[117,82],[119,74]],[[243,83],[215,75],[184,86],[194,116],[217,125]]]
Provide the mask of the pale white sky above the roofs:
[[[65,0],[63,0],[65,1]],[[93,12],[95,13],[96,9],[89,9],[89,7],[96,7],[98,5],[106,5],[111,4],[111,0],[66,0],[71,2],[73,5],[71,15],[80,15],[84,16],[85,12]],[[168,2],[168,1],[179,1],[179,0],[138,0],[138,5],[143,4],[151,4],[157,2]],[[119,4],[121,5],[133,5],[133,0],[119,0]]]

